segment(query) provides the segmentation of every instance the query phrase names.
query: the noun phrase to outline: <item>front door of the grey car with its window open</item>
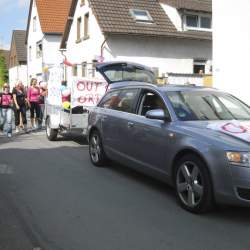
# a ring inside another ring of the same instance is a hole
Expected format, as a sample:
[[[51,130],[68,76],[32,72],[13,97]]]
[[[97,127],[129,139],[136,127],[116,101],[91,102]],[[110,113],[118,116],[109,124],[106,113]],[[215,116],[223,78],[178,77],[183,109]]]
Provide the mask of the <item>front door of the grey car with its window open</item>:
[[[169,112],[162,97],[151,90],[143,90],[140,95],[137,116],[133,129],[135,144],[133,157],[150,168],[165,171],[167,158],[171,151],[171,123],[162,120],[151,120],[145,117],[147,111],[163,109]]]

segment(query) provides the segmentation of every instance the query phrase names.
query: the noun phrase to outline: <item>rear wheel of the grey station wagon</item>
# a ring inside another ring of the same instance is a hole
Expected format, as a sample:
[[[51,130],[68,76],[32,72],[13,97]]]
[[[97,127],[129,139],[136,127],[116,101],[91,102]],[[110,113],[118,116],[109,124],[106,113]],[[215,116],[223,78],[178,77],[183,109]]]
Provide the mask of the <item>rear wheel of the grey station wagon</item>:
[[[101,135],[97,130],[94,130],[89,137],[89,155],[91,162],[96,167],[103,167],[108,162]]]

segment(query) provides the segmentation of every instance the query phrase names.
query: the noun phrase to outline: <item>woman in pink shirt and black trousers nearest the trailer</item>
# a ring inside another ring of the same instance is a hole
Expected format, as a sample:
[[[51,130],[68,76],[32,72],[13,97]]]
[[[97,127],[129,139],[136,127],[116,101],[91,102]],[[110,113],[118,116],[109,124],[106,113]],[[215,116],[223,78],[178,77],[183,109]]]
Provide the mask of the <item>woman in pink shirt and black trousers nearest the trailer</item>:
[[[40,104],[39,104],[40,89],[37,86],[37,79],[35,78],[31,79],[30,87],[27,93],[27,99],[30,104],[31,127],[36,129],[37,121],[39,119],[41,110],[40,110]],[[35,117],[35,113],[36,113],[36,117]]]

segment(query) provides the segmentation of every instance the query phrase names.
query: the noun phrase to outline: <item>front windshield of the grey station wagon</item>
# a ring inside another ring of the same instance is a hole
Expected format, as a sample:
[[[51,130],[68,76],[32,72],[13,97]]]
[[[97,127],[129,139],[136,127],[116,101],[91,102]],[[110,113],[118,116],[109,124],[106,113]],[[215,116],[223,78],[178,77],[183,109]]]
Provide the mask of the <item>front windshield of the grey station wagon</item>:
[[[166,93],[182,121],[250,120],[250,108],[231,95],[205,91]]]

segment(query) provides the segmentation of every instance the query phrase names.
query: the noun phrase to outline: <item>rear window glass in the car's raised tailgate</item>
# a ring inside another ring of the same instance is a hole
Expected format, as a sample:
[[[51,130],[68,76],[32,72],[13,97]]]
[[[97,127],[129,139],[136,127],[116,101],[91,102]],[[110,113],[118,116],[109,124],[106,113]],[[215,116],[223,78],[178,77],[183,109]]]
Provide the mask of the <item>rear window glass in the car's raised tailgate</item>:
[[[103,73],[111,83],[121,81],[155,83],[156,80],[153,72],[127,64],[109,66]]]

